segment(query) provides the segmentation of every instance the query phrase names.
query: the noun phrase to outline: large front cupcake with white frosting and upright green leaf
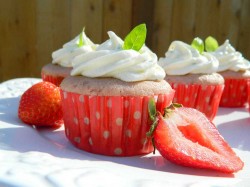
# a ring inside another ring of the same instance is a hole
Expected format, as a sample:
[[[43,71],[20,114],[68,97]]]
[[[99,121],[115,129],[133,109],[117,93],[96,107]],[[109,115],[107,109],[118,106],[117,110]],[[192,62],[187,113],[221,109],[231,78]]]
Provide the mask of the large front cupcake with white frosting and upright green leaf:
[[[109,39],[96,51],[73,60],[72,76],[60,85],[66,136],[82,150],[109,156],[153,150],[146,136],[151,124],[149,99],[154,98],[163,112],[174,91],[163,80],[157,56],[145,45],[131,48],[138,46],[131,39],[137,31],[143,37],[145,24],[135,27],[125,41],[109,31]]]

